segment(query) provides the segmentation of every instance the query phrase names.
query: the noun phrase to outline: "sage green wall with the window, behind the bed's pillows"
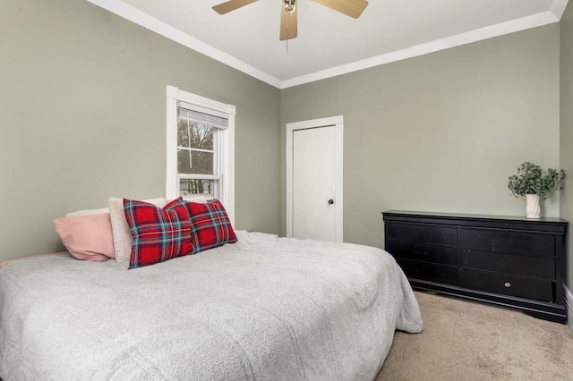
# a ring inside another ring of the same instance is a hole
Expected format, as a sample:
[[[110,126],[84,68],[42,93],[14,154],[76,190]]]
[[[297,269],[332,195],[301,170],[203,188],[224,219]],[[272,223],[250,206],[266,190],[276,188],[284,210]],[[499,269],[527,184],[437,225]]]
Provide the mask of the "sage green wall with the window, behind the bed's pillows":
[[[0,36],[0,261],[63,249],[66,212],[165,195],[166,85],[237,107],[235,226],[279,233],[278,89],[86,1],[4,0]]]

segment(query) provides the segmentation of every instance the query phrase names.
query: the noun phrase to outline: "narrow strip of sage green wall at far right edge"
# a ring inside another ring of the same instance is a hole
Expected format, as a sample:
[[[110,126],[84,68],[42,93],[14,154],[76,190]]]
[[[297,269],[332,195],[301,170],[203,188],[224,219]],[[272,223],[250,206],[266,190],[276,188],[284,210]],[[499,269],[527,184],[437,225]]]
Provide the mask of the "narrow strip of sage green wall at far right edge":
[[[569,3],[560,21],[560,162],[567,177],[561,192],[561,216],[573,233],[573,5]],[[569,236],[569,290],[573,285],[573,239]]]

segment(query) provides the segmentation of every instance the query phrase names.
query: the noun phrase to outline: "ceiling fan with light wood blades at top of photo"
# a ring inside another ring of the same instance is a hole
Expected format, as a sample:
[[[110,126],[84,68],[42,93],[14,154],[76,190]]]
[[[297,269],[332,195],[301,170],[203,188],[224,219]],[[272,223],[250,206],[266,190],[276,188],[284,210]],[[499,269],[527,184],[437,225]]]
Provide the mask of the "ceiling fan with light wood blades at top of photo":
[[[257,0],[229,0],[215,5],[213,9],[219,14],[229,13],[244,5],[254,3]],[[328,6],[330,9],[344,13],[357,19],[368,5],[366,0],[312,0],[315,3]],[[297,0],[280,0],[280,40],[293,39],[297,36],[296,30],[296,3]]]

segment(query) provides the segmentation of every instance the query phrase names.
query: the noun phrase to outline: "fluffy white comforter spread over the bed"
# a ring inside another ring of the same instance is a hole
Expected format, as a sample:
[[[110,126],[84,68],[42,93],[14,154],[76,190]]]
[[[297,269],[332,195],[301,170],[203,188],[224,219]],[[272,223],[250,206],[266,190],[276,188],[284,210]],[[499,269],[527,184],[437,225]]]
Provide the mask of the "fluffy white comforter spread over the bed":
[[[372,380],[414,293],[385,251],[237,232],[150,267],[67,255],[0,269],[0,377]]]

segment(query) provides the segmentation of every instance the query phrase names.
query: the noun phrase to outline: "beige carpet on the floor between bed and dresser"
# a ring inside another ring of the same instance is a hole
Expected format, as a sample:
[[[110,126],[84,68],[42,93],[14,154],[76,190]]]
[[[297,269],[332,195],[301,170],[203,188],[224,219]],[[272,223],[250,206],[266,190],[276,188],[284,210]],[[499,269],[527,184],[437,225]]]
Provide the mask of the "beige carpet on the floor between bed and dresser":
[[[376,381],[573,380],[568,326],[415,292],[422,334],[397,332]]]

